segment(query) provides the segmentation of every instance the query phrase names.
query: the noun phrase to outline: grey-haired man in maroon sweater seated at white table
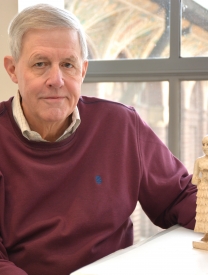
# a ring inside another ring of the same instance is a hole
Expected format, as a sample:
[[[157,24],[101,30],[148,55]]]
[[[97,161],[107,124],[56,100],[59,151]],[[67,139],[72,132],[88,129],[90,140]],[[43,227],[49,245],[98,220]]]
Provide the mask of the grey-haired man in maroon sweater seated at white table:
[[[9,34],[18,92],[0,104],[0,274],[68,275],[130,246],[138,200],[156,225],[193,229],[184,166],[133,108],[80,96],[79,21],[37,5]]]

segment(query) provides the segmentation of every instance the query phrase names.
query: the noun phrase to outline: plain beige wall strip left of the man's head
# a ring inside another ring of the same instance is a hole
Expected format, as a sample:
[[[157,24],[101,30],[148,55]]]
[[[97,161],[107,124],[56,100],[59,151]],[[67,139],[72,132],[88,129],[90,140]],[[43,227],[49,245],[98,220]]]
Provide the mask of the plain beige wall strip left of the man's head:
[[[4,56],[10,55],[7,29],[11,19],[18,11],[17,0],[0,0],[0,101],[7,100],[17,90],[4,69]]]

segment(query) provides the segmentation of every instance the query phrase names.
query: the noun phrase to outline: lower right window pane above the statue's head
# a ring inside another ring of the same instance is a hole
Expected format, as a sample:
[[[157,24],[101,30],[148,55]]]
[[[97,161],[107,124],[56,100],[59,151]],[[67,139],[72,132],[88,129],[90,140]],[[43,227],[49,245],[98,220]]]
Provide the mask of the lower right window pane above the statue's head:
[[[208,134],[208,81],[181,82],[181,161],[193,173]]]

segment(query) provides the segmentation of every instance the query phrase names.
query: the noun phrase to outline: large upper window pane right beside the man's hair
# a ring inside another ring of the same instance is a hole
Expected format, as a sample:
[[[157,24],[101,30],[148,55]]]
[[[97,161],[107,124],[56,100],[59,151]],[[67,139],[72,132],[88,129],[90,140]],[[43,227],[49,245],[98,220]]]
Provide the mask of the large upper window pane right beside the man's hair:
[[[88,37],[89,59],[169,57],[170,0],[65,0]]]

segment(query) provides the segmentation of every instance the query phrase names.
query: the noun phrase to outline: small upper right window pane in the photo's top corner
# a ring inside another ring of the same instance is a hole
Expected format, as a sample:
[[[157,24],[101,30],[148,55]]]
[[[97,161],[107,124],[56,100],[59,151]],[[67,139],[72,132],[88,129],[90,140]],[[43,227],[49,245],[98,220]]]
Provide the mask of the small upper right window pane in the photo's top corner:
[[[208,1],[182,0],[181,56],[208,56]]]

